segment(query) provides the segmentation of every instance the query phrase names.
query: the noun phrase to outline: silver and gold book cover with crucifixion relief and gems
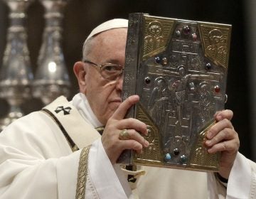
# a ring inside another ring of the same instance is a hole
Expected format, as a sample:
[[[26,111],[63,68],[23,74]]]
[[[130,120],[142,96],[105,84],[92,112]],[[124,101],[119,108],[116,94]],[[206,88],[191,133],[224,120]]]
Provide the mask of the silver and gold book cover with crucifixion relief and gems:
[[[203,142],[227,98],[230,35],[228,24],[129,14],[122,99],[139,95],[127,117],[146,123],[149,147],[119,161],[218,171]]]

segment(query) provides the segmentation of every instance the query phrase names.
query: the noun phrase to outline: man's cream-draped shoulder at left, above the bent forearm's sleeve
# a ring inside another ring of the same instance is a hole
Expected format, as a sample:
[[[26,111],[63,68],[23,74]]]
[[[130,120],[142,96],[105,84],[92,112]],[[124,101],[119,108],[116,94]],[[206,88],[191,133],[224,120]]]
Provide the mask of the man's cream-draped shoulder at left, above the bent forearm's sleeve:
[[[43,153],[45,157],[53,155],[52,149],[55,154],[68,153],[67,150],[70,150],[59,127],[41,111],[32,112],[9,124],[0,133],[0,148],[6,146],[26,151],[26,154],[38,151],[36,154]]]

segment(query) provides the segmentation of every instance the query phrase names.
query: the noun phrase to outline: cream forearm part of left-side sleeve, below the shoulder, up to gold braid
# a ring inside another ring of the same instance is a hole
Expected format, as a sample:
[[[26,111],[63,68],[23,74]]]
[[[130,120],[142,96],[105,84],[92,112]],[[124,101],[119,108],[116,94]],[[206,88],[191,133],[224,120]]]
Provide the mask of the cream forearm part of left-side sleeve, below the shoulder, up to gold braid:
[[[75,198],[80,151],[46,160],[0,146],[0,198]]]

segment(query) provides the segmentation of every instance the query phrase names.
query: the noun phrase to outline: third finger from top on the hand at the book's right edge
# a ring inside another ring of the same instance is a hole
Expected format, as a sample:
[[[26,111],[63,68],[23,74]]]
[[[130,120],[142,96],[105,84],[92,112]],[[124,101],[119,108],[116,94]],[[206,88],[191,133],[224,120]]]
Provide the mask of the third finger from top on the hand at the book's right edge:
[[[213,136],[212,139],[206,140],[205,144],[206,146],[213,146],[214,144],[218,144],[221,141],[228,141],[228,140],[235,139],[236,136],[237,136],[237,133],[235,132],[234,129],[225,128],[222,131],[220,131],[218,134]]]

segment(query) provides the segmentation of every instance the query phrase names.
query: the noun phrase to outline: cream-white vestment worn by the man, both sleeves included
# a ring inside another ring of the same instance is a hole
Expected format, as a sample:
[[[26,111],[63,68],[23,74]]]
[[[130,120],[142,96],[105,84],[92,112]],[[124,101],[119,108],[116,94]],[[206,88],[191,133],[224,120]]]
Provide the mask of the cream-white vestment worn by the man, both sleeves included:
[[[256,198],[256,166],[242,154],[235,159],[227,188],[213,173],[142,166],[146,173],[131,185],[137,185],[132,194],[127,176],[105,153],[95,132],[100,122],[85,96],[64,101],[60,97],[46,107],[55,109],[55,117],[62,114],[63,128],[46,112],[33,112],[1,132],[0,198]],[[64,107],[54,107],[62,103]]]

